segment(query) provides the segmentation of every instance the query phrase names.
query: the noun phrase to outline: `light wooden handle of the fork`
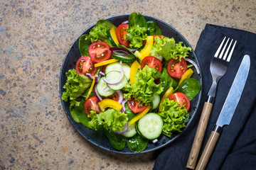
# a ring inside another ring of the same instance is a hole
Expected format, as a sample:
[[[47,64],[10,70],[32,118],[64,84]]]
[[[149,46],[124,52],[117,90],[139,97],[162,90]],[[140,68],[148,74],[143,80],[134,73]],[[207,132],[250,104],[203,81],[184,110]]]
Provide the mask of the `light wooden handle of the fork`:
[[[188,162],[186,164],[186,167],[188,169],[195,169],[196,167],[196,162],[198,159],[198,154],[201,149],[201,144],[203,141],[203,136],[206,132],[206,126],[208,124],[208,120],[210,117],[210,112],[213,108],[213,103],[210,102],[205,102],[203,105],[203,111],[201,113],[201,118],[198,123],[198,128],[196,130],[196,135],[193,140],[193,145],[191,147],[191,152],[188,157]]]

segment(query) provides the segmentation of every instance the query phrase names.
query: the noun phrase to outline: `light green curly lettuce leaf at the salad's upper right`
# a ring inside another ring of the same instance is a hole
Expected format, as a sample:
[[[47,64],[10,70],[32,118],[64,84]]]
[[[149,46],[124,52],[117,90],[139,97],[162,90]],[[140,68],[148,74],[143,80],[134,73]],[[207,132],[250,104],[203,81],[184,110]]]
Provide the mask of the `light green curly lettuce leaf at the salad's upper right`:
[[[186,47],[183,42],[176,43],[174,38],[164,36],[155,37],[154,45],[150,49],[151,55],[155,57],[162,56],[165,60],[185,58],[191,52],[191,47]]]

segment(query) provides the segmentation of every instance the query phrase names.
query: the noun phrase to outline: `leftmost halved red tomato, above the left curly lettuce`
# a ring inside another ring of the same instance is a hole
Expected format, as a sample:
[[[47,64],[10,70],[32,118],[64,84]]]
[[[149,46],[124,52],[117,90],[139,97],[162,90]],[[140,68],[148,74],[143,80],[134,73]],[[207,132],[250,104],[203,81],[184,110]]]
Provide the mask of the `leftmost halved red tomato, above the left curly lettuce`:
[[[97,68],[94,67],[94,62],[88,56],[82,56],[75,64],[75,70],[78,74],[90,73],[92,76],[96,73]]]

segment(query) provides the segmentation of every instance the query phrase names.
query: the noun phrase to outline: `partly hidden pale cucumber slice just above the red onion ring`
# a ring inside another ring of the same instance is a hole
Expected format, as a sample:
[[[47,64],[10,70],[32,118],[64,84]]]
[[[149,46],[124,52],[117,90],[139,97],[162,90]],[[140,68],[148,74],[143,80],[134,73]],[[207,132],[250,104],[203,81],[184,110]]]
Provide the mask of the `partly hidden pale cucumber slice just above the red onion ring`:
[[[109,72],[112,72],[112,71],[119,72],[121,67],[124,70],[125,77],[127,77],[127,80],[129,80],[129,72],[131,67],[129,67],[129,65],[126,63],[120,64],[120,62],[114,62],[112,64],[108,64],[105,69],[105,74],[108,74]]]

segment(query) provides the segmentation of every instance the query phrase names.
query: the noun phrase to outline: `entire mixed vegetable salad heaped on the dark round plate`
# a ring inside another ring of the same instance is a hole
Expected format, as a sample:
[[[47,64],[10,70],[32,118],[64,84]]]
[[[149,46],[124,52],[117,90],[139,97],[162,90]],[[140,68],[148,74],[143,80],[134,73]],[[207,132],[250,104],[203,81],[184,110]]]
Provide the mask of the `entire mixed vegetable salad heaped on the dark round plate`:
[[[66,72],[63,101],[77,123],[102,130],[114,149],[142,152],[161,135],[186,127],[201,84],[190,47],[162,35],[154,21],[132,13],[119,26],[97,21],[78,41],[81,57]]]

